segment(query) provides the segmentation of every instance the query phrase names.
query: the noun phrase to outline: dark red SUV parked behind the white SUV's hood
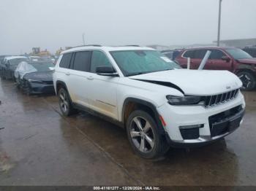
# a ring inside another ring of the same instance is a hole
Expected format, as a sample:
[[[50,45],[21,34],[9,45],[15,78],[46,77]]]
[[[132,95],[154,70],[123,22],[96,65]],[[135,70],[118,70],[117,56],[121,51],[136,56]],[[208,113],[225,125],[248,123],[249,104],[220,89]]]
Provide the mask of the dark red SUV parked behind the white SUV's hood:
[[[253,90],[256,87],[256,58],[235,47],[185,49],[176,57],[176,62],[187,69],[187,58],[190,58],[190,69],[198,69],[207,50],[211,51],[211,55],[204,69],[231,71],[241,79],[244,90]]]

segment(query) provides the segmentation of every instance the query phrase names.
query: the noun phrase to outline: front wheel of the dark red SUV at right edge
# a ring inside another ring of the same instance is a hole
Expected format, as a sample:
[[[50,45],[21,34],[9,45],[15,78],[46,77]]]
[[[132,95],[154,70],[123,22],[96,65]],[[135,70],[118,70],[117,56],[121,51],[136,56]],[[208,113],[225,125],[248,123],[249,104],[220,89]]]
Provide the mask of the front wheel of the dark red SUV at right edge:
[[[243,88],[246,91],[254,90],[256,87],[256,79],[255,76],[249,71],[240,71],[237,76],[243,82]]]

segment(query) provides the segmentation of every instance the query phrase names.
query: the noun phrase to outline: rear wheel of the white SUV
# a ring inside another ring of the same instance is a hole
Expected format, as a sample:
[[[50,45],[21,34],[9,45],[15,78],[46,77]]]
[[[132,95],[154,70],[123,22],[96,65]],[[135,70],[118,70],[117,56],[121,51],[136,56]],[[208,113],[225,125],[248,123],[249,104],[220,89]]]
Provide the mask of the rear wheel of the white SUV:
[[[64,116],[68,117],[77,112],[77,110],[72,107],[71,100],[69,98],[69,93],[67,93],[67,90],[63,87],[61,87],[61,89],[58,92],[58,98],[59,108],[61,109],[61,113]]]

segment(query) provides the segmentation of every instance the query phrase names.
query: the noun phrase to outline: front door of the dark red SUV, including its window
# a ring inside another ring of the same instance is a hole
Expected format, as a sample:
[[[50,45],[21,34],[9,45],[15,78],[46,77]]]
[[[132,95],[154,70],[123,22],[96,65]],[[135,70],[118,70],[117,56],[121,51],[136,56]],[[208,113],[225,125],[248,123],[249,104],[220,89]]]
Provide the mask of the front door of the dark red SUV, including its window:
[[[219,49],[210,49],[211,55],[206,63],[205,69],[208,70],[227,70],[232,71],[232,60],[224,61],[224,56],[229,57],[225,52]]]

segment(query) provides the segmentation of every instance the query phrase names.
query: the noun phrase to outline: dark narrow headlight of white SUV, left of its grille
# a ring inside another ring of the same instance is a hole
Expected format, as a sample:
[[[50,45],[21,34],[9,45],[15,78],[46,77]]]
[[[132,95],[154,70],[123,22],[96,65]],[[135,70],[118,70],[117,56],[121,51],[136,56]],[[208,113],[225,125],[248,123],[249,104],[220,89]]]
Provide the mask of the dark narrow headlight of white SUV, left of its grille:
[[[198,104],[201,101],[200,96],[186,95],[184,97],[166,95],[168,103],[171,105],[192,105]]]

